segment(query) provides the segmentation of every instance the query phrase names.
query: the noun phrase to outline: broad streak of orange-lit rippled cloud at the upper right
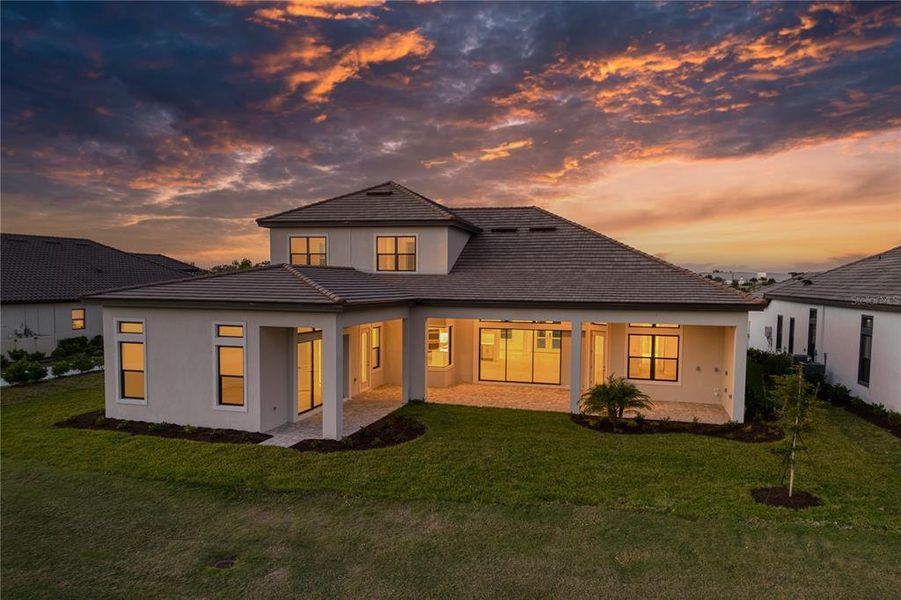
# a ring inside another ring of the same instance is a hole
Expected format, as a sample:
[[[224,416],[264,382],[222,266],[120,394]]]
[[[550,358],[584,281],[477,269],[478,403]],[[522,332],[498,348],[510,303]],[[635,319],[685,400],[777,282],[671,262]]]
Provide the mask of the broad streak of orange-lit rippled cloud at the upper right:
[[[829,37],[811,37],[809,32],[826,19],[835,20],[836,31]],[[762,36],[733,34],[699,47],[658,44],[642,50],[633,44],[612,55],[559,58],[542,72],[526,76],[514,93],[493,98],[492,103],[537,115],[545,103],[581,97],[605,113],[635,123],[742,111],[778,92],[751,92],[736,99],[731,90],[738,81],[798,77],[842,55],[885,47],[897,34],[873,33],[891,24],[901,24],[901,17],[890,6],[852,15],[845,4],[820,3],[799,15],[796,24]]]

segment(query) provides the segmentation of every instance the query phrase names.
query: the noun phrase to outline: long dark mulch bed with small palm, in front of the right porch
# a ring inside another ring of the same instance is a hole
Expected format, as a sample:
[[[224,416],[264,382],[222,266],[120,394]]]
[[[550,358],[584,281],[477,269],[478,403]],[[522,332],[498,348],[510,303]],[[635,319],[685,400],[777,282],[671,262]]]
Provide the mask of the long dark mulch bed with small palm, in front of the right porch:
[[[622,419],[614,429],[609,420],[588,415],[571,415],[574,423],[600,431],[602,433],[694,433],[711,437],[762,444],[778,442],[785,438],[785,432],[775,423],[752,421],[750,423],[726,423],[710,425],[707,423],[682,423],[679,421],[654,421],[650,419]]]

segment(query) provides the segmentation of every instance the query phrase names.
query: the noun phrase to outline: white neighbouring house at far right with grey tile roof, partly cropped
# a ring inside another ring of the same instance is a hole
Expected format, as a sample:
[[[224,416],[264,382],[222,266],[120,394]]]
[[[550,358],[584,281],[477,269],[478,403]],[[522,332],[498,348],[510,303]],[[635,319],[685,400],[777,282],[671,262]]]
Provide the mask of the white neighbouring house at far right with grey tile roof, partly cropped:
[[[901,411],[901,246],[761,290],[753,348],[826,365],[826,378]]]

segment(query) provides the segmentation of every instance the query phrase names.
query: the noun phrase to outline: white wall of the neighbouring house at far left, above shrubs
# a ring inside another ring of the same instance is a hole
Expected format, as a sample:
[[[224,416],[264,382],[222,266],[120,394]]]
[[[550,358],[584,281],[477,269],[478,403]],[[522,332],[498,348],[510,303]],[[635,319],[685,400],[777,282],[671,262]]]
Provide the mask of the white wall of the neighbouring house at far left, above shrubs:
[[[72,330],[73,308],[85,309],[85,328],[82,330]],[[16,330],[23,330],[26,327],[35,335],[27,338],[18,337]],[[3,354],[16,348],[50,354],[61,339],[82,335],[90,339],[102,333],[102,311],[96,305],[44,303],[0,306]]]

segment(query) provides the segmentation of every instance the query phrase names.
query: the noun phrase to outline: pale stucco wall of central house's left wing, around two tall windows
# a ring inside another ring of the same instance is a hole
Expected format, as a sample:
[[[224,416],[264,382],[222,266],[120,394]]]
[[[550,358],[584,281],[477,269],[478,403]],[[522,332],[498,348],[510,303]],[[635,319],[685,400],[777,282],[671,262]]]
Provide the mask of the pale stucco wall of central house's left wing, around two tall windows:
[[[115,333],[119,319],[143,319],[145,322],[146,404],[119,401],[119,356]],[[217,322],[245,324],[246,395],[245,406],[240,410],[216,405],[213,327]],[[289,387],[276,383],[261,386],[261,369],[272,376],[290,369],[290,363],[282,362],[290,350],[290,346],[285,347],[289,344],[288,329],[328,327],[334,330],[335,323],[335,315],[328,313],[104,307],[106,415],[245,431],[268,429],[274,419],[269,413],[278,412],[279,407],[284,407],[288,413],[288,407],[293,406],[294,394]],[[265,329],[269,327],[285,328],[286,331]],[[283,353],[270,354],[278,348],[283,348]],[[261,352],[265,354],[261,355]],[[272,362],[273,356],[276,362]],[[323,361],[323,379],[329,375],[330,366]],[[267,411],[265,419],[261,418],[261,406]]]

